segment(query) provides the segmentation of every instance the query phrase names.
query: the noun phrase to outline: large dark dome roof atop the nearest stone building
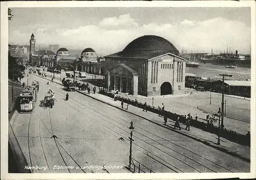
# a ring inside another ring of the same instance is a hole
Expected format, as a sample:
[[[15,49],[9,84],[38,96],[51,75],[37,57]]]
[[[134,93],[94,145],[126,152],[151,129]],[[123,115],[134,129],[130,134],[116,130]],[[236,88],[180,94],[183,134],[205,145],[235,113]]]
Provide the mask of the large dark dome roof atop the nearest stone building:
[[[133,40],[123,51],[179,52],[168,40],[153,35],[141,36]]]

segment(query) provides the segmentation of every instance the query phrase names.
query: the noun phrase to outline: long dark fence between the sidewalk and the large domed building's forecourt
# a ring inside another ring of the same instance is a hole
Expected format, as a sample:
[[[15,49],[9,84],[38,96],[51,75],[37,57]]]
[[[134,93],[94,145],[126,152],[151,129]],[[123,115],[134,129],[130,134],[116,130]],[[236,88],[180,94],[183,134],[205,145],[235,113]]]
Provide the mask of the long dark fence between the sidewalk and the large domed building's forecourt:
[[[99,89],[99,93],[114,98],[114,94],[111,93],[111,92],[108,92],[107,89],[104,89],[104,91],[103,91],[103,89]],[[144,104],[142,104],[141,102],[135,102],[134,100],[131,100],[129,98],[125,98],[125,97],[121,97],[121,96],[117,95],[117,100],[120,100],[120,101],[123,100],[124,103],[127,103],[127,104],[132,105],[132,106],[136,106],[136,107],[141,108],[141,109],[144,108]],[[146,105],[146,110],[150,111],[150,112],[153,112],[153,113],[156,113],[156,114],[160,113],[158,108],[152,107],[150,105]],[[169,111],[164,111],[163,113],[166,115],[166,117],[168,119],[172,119],[172,120],[175,121],[177,119],[177,117],[180,117],[180,121],[182,123],[185,123],[184,117],[179,115],[179,114],[172,113],[172,112],[169,112]],[[212,133],[212,134],[216,134],[216,135],[219,134],[219,127],[215,126],[215,125],[212,125],[210,123],[204,123],[202,121],[197,121],[195,119],[191,119],[190,120],[190,126],[200,128],[201,130]],[[224,130],[221,131],[221,137],[223,137],[223,138],[225,138],[229,141],[232,141],[232,142],[237,142],[239,144],[250,145],[250,143],[249,143],[250,142],[250,140],[249,140],[250,137],[249,136],[239,134],[236,131],[226,130],[226,128],[224,128]]]

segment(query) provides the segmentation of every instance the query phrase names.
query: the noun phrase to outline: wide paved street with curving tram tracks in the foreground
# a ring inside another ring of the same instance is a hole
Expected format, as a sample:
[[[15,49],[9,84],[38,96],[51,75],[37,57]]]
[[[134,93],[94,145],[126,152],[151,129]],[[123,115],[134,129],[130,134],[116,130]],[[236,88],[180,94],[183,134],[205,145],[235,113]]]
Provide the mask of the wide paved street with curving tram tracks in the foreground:
[[[34,80],[39,82],[35,109],[31,114],[17,114],[10,121],[28,165],[48,167],[33,172],[105,172],[54,169],[55,165],[128,166],[131,121],[135,127],[132,158],[154,172],[250,172],[249,162],[78,92],[68,92],[66,101],[67,91],[61,85],[47,85],[47,80],[30,74],[29,84]],[[56,98],[52,109],[42,105],[49,89]],[[51,138],[53,135],[57,138]],[[124,140],[118,140],[120,137]]]

